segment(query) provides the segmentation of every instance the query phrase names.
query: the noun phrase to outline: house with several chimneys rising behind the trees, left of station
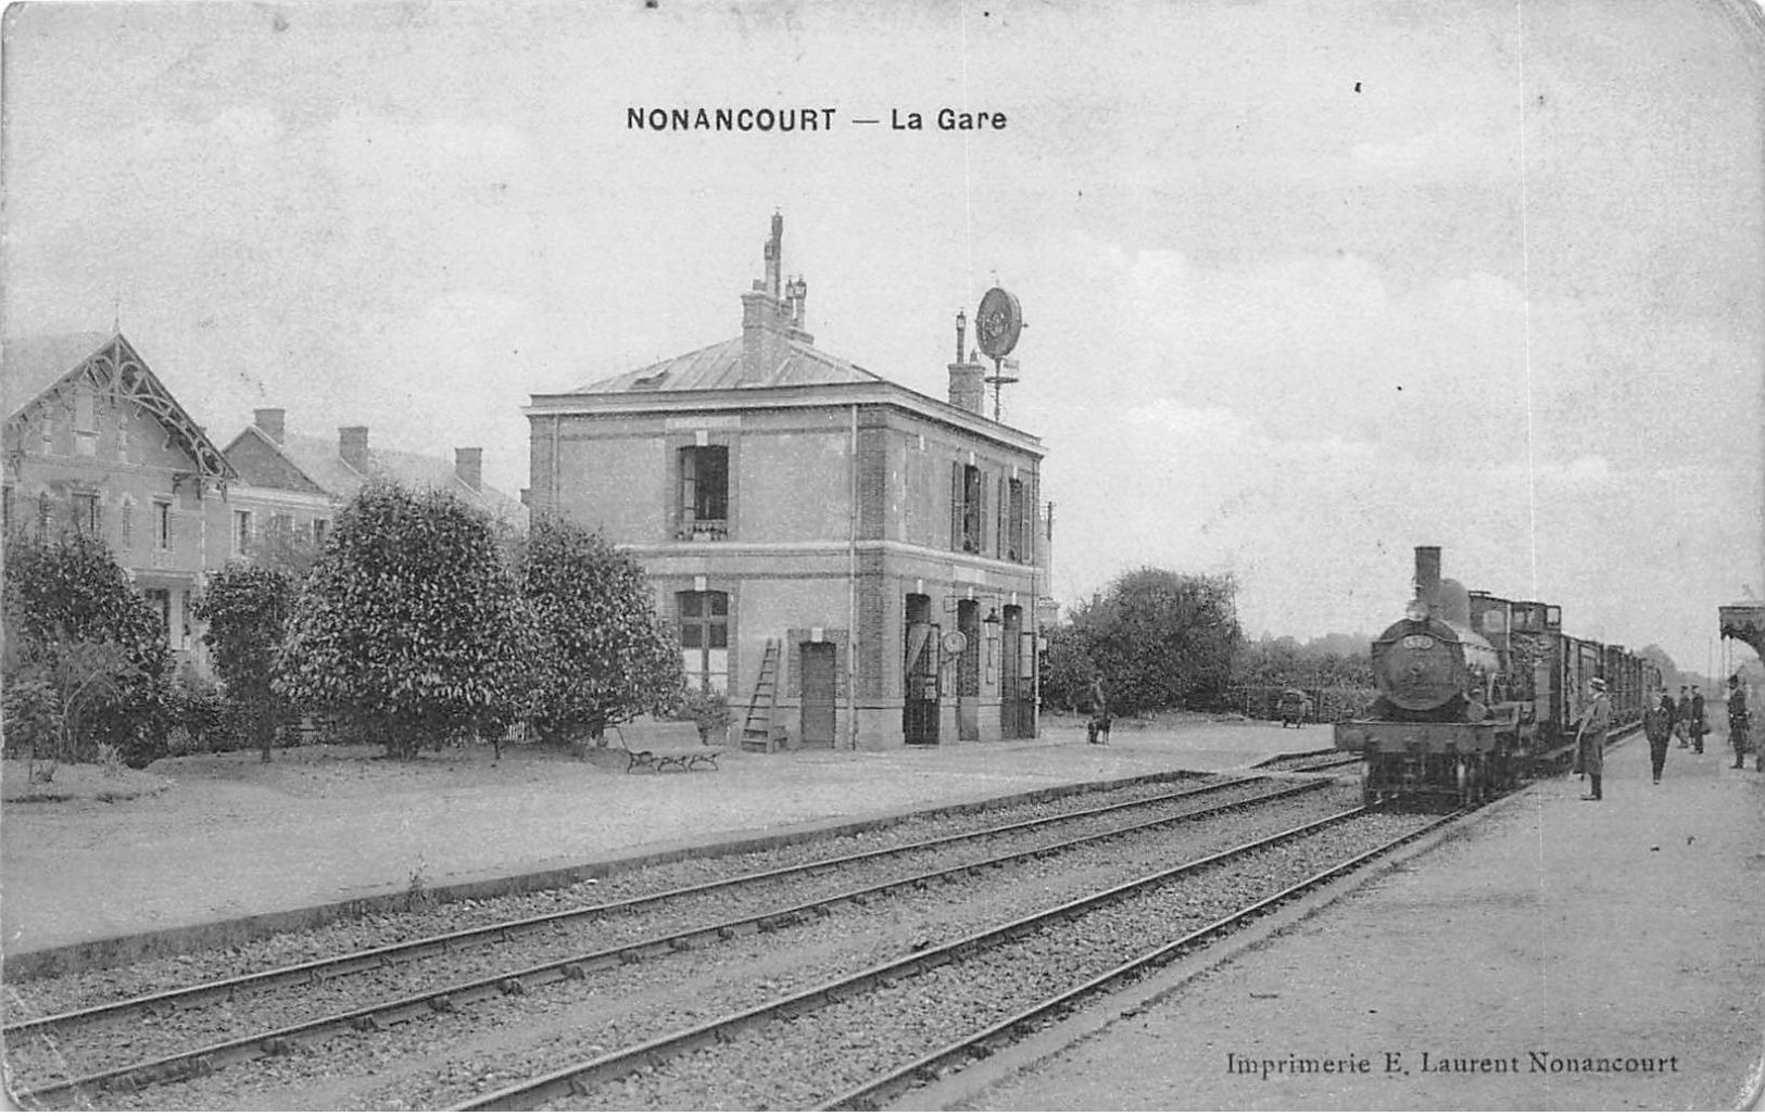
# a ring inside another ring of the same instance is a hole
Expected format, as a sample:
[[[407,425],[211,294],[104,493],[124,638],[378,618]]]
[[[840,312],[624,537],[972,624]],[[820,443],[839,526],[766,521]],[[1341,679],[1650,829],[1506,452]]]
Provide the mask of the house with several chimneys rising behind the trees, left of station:
[[[249,555],[265,532],[323,545],[337,511],[371,480],[448,492],[505,527],[526,531],[526,506],[484,483],[482,448],[455,450],[452,462],[378,450],[369,446],[367,427],[339,427],[330,441],[288,430],[281,407],[259,407],[222,453],[238,471],[228,531],[235,557]]]

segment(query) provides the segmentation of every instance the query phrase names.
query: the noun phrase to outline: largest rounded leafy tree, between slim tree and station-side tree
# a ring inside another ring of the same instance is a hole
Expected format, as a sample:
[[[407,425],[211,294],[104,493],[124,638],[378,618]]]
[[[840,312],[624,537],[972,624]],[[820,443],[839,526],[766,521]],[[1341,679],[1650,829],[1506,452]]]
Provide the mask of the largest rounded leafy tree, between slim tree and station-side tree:
[[[362,488],[295,601],[275,688],[387,755],[499,733],[526,682],[526,624],[489,520],[445,492]]]

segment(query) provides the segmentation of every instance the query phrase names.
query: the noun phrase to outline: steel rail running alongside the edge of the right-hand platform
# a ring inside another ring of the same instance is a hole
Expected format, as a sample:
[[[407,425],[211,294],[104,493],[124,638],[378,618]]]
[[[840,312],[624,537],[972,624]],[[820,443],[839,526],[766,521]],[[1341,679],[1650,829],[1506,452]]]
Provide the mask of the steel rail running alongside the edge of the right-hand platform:
[[[1479,806],[1476,809],[1483,807]],[[1100,977],[1093,977],[1084,984],[1077,984],[1066,989],[1064,993],[1059,993],[1057,996],[1050,996],[1048,1000],[1043,1000],[1034,1007],[1029,1007],[1006,1019],[1001,1019],[999,1023],[981,1028],[964,1038],[958,1038],[957,1042],[951,1042],[950,1045],[944,1045],[943,1049],[932,1051],[923,1058],[900,1065],[893,1070],[888,1070],[886,1074],[879,1074],[877,1077],[872,1077],[870,1081],[860,1084],[854,1090],[849,1090],[845,1093],[824,1100],[817,1107],[817,1111],[826,1112],[826,1111],[847,1111],[847,1109],[875,1109],[884,1104],[890,1104],[900,1093],[905,1093],[907,1090],[914,1088],[914,1084],[918,1084],[920,1081],[935,1077],[946,1067],[992,1056],[999,1049],[1029,1035],[1045,1023],[1052,1023],[1055,1017],[1077,1010],[1078,1001],[1087,1000],[1093,994],[1110,991],[1112,987],[1130,984],[1130,980],[1138,977],[1140,973],[1168,964],[1179,956],[1188,954],[1190,950],[1205,943],[1209,938],[1232,929],[1239,922],[1267,913],[1276,906],[1281,906],[1283,903],[1288,903],[1290,899],[1296,899],[1297,896],[1303,896],[1304,892],[1313,890],[1334,880],[1336,876],[1350,873],[1361,867],[1363,864],[1368,864],[1370,860],[1377,860],[1378,857],[1384,857],[1386,853],[1401,844],[1408,844],[1410,841],[1421,837],[1423,834],[1428,834],[1435,829],[1440,829],[1442,825],[1447,825],[1449,822],[1456,822],[1458,818],[1476,813],[1476,809],[1461,809],[1451,815],[1444,815],[1440,818],[1433,818],[1423,825],[1417,825],[1414,830],[1380,844],[1378,848],[1356,853],[1354,857],[1348,857],[1347,860],[1336,864],[1334,867],[1327,867],[1317,873],[1315,876],[1301,880],[1299,883],[1294,883],[1292,887],[1287,887],[1266,899],[1258,899],[1250,906],[1232,911],[1230,915],[1218,919],[1216,922],[1209,922],[1207,926],[1191,931],[1174,941],[1167,941],[1165,945],[1160,945],[1154,950],[1140,954],[1138,957],[1133,957],[1131,961],[1126,961]]]

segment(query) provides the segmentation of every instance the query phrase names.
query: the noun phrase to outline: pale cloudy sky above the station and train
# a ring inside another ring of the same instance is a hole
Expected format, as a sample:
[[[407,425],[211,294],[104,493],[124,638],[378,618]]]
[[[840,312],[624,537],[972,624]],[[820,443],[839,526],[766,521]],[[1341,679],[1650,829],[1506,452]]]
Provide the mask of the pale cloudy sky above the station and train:
[[[221,444],[284,407],[517,492],[530,395],[738,335],[780,212],[817,347],[927,395],[1018,296],[1068,605],[1153,564],[1371,633],[1438,545],[1721,668],[1765,594],[1746,4],[12,5],[0,326],[118,323]],[[628,127],[699,106],[833,113]]]

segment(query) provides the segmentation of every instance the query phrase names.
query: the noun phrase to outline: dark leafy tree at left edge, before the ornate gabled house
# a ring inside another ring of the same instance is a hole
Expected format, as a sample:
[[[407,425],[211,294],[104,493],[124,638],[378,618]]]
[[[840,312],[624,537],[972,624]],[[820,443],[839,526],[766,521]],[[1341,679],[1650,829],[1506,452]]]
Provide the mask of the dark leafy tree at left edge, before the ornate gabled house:
[[[7,539],[5,681],[48,686],[60,711],[60,760],[115,749],[146,767],[164,748],[171,654],[159,614],[109,547],[85,534]],[[42,723],[34,714],[32,723]]]

